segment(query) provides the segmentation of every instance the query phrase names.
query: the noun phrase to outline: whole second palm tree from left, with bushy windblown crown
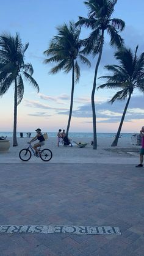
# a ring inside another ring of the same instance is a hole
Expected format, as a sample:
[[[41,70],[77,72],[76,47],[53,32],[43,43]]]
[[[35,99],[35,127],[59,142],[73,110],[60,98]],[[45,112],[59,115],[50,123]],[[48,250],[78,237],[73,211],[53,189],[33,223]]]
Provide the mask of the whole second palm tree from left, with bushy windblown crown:
[[[72,70],[70,114],[66,132],[66,135],[68,136],[73,110],[74,83],[78,82],[80,77],[80,68],[77,59],[81,60],[83,64],[87,64],[88,67],[90,67],[90,62],[80,53],[82,48],[82,40],[79,40],[81,32],[80,27],[76,27],[74,22],[70,21],[69,26],[63,24],[63,26],[57,27],[57,32],[58,35],[52,38],[48,49],[44,52],[46,56],[50,56],[49,59],[45,59],[45,64],[49,64],[49,62],[57,63],[57,65],[54,68],[51,68],[51,71],[49,72],[52,74],[56,74],[60,70],[69,73]]]

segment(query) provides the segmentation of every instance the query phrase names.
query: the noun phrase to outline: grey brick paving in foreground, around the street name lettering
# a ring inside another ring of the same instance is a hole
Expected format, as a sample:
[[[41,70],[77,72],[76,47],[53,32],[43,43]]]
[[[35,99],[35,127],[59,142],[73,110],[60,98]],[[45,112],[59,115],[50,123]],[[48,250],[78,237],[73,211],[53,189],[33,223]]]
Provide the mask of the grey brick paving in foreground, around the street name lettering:
[[[0,225],[113,225],[121,236],[0,235],[0,255],[143,255],[144,168],[1,164]]]

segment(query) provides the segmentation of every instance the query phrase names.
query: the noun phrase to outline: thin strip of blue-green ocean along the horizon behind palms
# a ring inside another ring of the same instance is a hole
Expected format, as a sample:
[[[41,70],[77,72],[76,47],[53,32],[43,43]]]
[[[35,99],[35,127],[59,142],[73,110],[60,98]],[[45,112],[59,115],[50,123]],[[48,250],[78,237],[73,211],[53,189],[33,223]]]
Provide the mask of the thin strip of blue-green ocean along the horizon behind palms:
[[[45,132],[45,131],[44,131]],[[35,136],[35,132],[30,132],[31,137]],[[49,137],[57,137],[57,132],[47,132]],[[20,132],[17,132],[17,137],[20,137]],[[98,137],[114,137],[116,133],[97,133]],[[129,137],[132,136],[134,133],[121,133],[122,137]],[[13,133],[11,131],[0,131],[0,137],[1,136],[7,136],[7,137],[12,137]],[[69,137],[93,137],[93,133],[68,133]],[[23,132],[23,137],[27,137],[27,132]]]

